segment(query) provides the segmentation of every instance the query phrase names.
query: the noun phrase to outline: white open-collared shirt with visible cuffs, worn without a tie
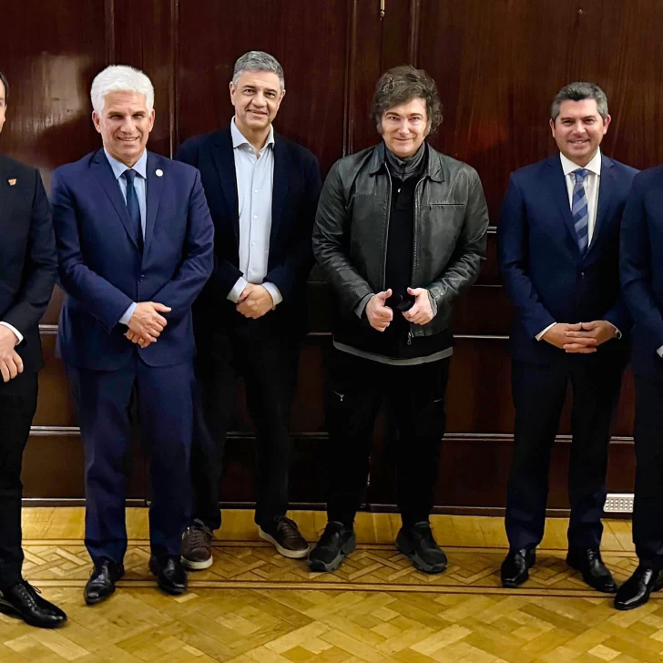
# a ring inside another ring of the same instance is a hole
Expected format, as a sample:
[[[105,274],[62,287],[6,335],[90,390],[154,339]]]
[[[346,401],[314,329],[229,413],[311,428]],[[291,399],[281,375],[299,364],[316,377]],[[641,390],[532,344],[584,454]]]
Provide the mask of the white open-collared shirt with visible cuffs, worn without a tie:
[[[230,301],[238,301],[248,283],[264,286],[270,293],[274,306],[283,301],[279,289],[267,275],[270,257],[271,231],[271,191],[274,181],[274,128],[264,147],[256,154],[250,142],[244,138],[230,122],[235,175],[237,176],[237,199],[240,210],[240,271],[237,280],[228,294]]]

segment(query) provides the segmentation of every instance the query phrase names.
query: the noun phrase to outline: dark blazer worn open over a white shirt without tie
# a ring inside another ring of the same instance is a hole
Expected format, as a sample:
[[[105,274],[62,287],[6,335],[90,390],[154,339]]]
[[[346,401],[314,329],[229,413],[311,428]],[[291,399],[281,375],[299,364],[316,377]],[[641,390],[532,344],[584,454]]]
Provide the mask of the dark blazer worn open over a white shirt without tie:
[[[303,331],[306,323],[306,279],[313,265],[311,234],[321,190],[318,159],[311,152],[274,134],[274,179],[271,201],[270,255],[264,280],[279,289],[283,301],[270,315]],[[189,138],[175,158],[200,170],[215,230],[212,278],[196,308],[197,321],[208,325],[210,314],[237,315],[227,299],[242,276],[240,211],[230,126]],[[197,327],[198,327],[197,322]]]

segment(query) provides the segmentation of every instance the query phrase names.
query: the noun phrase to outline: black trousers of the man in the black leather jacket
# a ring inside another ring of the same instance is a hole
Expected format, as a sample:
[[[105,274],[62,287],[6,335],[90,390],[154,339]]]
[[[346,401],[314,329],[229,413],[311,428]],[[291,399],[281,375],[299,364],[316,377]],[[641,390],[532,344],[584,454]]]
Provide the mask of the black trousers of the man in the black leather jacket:
[[[428,520],[444,435],[449,362],[393,366],[333,351],[327,407],[330,521],[352,525],[362,505],[372,430],[385,397],[398,428],[396,499],[403,525]]]

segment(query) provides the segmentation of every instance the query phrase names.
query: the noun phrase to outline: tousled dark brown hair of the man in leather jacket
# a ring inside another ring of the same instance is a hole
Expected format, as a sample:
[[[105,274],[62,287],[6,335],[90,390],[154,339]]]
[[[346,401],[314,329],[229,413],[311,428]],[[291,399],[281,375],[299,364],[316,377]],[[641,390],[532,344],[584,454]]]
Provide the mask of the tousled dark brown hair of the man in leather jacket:
[[[384,111],[417,98],[426,103],[426,115],[433,133],[442,123],[442,103],[433,78],[423,69],[410,65],[394,66],[385,71],[372,98],[371,115],[375,124],[380,128]]]

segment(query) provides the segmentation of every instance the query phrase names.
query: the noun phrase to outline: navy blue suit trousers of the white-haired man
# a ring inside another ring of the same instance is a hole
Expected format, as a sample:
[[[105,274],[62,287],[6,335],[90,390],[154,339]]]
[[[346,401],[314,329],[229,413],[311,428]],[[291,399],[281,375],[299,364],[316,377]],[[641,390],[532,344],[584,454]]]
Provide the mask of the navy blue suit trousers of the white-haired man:
[[[85,543],[92,561],[97,564],[107,558],[119,564],[127,552],[126,462],[131,451],[133,399],[150,458],[152,554],[179,556],[190,516],[192,363],[153,367],[135,353],[117,371],[71,365],[66,370],[85,450]]]

